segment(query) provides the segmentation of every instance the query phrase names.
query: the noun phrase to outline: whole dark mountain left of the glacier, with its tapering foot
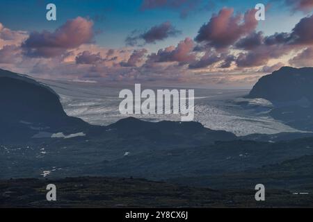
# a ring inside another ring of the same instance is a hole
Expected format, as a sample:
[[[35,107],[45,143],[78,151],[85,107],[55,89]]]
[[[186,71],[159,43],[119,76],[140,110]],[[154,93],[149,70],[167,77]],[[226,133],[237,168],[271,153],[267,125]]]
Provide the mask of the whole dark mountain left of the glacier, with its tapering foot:
[[[49,87],[2,69],[0,102],[1,139],[18,140],[40,131],[66,132],[88,126],[81,119],[68,117]]]

